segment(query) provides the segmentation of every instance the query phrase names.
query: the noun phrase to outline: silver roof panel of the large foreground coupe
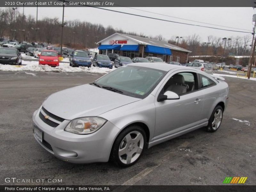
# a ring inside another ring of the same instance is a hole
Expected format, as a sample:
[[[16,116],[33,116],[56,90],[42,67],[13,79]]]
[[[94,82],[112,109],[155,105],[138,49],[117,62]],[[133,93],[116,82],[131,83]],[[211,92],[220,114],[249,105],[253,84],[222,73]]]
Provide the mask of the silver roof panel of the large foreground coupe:
[[[188,67],[181,66],[181,65],[170,65],[167,63],[149,63],[149,62],[147,62],[147,63],[146,62],[145,63],[131,63],[131,64],[129,64],[129,66],[147,67],[147,68],[158,69],[158,70],[162,70],[162,71],[170,71],[174,68],[190,69]]]

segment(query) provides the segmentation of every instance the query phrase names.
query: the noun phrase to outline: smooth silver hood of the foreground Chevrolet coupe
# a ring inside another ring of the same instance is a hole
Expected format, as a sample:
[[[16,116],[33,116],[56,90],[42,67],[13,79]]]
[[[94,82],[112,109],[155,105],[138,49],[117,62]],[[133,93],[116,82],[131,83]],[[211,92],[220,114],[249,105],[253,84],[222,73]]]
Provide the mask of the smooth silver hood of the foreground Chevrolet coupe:
[[[53,93],[44,101],[43,106],[56,116],[72,120],[99,116],[138,100],[141,99],[85,84]]]

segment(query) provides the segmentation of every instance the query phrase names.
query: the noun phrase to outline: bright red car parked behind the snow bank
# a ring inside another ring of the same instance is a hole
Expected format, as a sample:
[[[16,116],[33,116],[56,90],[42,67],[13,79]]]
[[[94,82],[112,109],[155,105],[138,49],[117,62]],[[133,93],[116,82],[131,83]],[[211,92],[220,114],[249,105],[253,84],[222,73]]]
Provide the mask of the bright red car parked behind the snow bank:
[[[45,50],[39,57],[39,65],[59,66],[58,53],[54,50]]]

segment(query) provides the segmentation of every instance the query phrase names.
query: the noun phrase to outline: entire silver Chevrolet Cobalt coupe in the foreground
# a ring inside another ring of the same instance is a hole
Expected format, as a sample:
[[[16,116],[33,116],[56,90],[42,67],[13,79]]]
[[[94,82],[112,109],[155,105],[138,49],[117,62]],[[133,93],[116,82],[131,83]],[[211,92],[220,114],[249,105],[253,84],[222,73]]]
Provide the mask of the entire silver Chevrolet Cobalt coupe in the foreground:
[[[129,166],[158,143],[200,127],[216,131],[227,104],[228,84],[203,71],[134,63],[50,95],[33,114],[34,136],[71,163]]]

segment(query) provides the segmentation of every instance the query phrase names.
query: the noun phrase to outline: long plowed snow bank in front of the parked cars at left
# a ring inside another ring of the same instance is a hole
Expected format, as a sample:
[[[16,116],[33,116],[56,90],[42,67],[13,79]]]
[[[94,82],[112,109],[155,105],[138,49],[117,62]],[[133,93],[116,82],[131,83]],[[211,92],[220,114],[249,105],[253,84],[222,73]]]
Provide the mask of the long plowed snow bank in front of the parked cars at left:
[[[28,62],[27,62],[28,63]],[[109,68],[99,68],[99,67],[70,67],[69,64],[60,63],[59,67],[50,67],[48,65],[38,65],[36,61],[28,63],[25,66],[16,67],[13,65],[2,65],[0,64],[0,71],[43,71],[43,72],[90,72],[90,73],[108,73],[115,70]]]

